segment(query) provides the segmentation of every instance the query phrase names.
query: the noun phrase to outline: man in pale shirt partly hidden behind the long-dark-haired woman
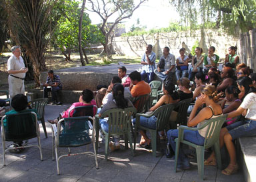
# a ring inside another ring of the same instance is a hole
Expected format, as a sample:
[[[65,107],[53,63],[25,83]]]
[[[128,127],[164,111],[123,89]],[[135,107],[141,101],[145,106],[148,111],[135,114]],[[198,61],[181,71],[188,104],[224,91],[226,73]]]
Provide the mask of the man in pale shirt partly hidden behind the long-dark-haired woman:
[[[99,101],[99,93],[96,94],[95,98],[97,99],[97,103],[99,102],[99,103],[101,103],[101,105],[105,105],[108,100],[113,100],[112,88],[113,88],[114,84],[116,84],[116,83],[121,84],[121,78],[119,78],[119,76],[113,76],[109,87],[107,89],[105,89],[106,90],[105,96],[101,102]],[[124,96],[125,96],[125,98],[131,100],[131,92],[130,92],[129,88],[127,88],[127,87],[125,87]],[[99,106],[98,108],[100,108],[100,107],[101,106]]]

